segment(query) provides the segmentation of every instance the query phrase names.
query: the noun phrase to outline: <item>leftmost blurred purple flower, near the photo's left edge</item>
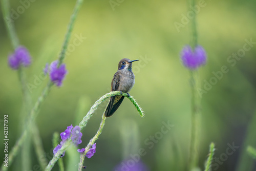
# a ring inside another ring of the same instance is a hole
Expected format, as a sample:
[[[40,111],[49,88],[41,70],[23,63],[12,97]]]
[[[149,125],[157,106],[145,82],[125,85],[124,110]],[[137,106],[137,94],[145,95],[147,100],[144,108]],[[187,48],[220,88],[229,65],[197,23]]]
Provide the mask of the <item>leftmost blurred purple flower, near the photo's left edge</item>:
[[[25,47],[19,46],[15,49],[14,53],[8,57],[8,63],[14,70],[17,70],[20,65],[28,67],[31,63],[31,56]]]

